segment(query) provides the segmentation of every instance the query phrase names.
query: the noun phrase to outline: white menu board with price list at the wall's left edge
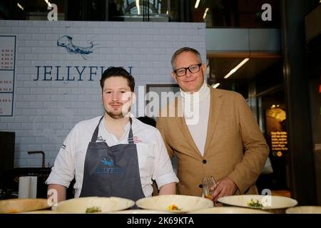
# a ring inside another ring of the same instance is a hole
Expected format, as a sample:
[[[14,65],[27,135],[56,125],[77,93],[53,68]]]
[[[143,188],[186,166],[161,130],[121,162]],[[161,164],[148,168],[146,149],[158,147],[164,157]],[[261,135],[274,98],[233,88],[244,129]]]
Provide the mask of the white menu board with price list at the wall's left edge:
[[[0,36],[0,116],[12,116],[16,36]]]

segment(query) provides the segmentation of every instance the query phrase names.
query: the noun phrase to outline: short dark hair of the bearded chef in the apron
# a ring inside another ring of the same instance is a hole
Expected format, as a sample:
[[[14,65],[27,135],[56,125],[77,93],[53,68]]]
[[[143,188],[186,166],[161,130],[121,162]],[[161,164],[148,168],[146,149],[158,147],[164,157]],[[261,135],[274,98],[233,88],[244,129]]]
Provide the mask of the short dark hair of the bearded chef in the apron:
[[[129,88],[131,88],[131,92],[134,91],[135,79],[133,78],[133,76],[131,76],[130,73],[128,73],[128,71],[126,71],[122,67],[111,67],[111,68],[108,68],[106,71],[103,71],[103,75],[101,76],[101,89],[103,89],[103,83],[105,83],[105,80],[111,77],[126,78],[128,82],[128,86]]]

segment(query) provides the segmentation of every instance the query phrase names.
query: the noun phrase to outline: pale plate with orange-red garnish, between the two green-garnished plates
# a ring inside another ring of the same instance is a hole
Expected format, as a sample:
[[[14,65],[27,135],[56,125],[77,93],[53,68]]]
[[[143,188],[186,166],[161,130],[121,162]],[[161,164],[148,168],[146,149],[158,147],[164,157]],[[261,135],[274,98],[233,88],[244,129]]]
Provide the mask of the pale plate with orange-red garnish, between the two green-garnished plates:
[[[213,201],[202,197],[193,197],[188,195],[158,195],[156,197],[138,199],[138,201],[136,201],[136,205],[143,209],[185,213],[197,209],[213,207]],[[178,210],[168,209],[170,205],[175,205],[178,207]]]

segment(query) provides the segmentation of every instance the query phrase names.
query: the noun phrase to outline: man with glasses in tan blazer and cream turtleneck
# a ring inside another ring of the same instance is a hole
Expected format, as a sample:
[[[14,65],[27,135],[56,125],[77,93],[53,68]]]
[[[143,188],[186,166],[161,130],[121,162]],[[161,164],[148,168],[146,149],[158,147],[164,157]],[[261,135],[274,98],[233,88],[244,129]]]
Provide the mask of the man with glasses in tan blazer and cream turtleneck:
[[[228,195],[258,194],[255,181],[268,147],[243,96],[207,86],[206,65],[193,48],[176,51],[172,66],[180,96],[162,110],[157,128],[170,157],[178,157],[178,194],[202,196],[202,179],[210,175],[218,180],[214,201]],[[186,114],[188,104],[197,107],[193,121]]]

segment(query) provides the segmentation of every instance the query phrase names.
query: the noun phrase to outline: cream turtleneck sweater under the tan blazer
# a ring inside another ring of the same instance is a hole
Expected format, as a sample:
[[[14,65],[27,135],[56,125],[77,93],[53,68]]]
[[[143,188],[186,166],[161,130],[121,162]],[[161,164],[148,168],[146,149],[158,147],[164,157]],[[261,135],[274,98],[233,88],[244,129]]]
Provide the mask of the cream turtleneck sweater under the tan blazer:
[[[185,123],[188,125],[188,130],[190,130],[195,145],[203,156],[208,132],[208,115],[210,113],[210,88],[204,82],[198,92],[186,93],[180,90],[180,95],[183,98],[183,107],[185,107],[183,108]],[[193,108],[195,108],[195,111],[191,112],[190,110],[193,110]],[[193,121],[188,118],[191,113],[193,114]]]

